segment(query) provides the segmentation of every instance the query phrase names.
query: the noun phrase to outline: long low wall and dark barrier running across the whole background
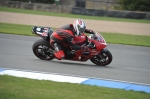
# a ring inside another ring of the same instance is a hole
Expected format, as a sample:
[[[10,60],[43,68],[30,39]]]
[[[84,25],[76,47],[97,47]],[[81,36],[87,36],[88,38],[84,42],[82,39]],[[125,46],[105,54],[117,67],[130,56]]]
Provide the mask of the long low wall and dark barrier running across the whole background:
[[[52,4],[41,4],[41,3],[27,3],[27,2],[8,1],[8,0],[5,0],[5,1],[0,0],[0,6],[28,9],[28,10],[46,11],[46,12],[92,15],[92,16],[107,16],[107,17],[132,18],[132,19],[150,19],[150,12],[96,10],[96,9],[72,7],[69,5],[66,6],[66,5],[52,5]]]

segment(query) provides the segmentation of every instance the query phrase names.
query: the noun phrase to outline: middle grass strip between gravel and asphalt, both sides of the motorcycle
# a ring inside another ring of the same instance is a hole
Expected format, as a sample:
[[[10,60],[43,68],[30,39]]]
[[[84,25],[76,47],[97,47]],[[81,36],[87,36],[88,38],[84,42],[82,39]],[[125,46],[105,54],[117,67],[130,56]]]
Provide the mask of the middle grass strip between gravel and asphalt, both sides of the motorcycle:
[[[34,36],[31,33],[32,26],[0,23],[0,32],[8,34],[28,35]],[[55,28],[53,28],[55,29]],[[114,44],[128,44],[137,46],[150,46],[150,36],[138,36],[129,34],[116,34],[116,33],[101,33],[107,43]]]

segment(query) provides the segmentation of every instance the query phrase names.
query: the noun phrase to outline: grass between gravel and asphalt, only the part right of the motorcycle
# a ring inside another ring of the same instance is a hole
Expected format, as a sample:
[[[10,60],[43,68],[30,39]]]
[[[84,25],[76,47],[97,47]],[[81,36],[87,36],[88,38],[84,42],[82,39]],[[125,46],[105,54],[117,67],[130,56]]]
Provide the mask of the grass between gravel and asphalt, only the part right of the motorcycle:
[[[135,46],[149,46],[150,36],[116,34],[116,33],[101,33],[107,43],[125,44]]]

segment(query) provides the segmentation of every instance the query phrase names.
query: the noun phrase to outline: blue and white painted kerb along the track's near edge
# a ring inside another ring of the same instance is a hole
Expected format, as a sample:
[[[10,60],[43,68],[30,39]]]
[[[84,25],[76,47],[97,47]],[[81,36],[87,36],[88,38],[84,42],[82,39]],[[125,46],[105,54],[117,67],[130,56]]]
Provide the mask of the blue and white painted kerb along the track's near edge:
[[[124,90],[144,91],[146,93],[150,93],[150,85],[123,82],[123,81],[92,79],[86,77],[61,75],[55,73],[49,74],[49,73],[42,73],[42,72],[35,72],[35,71],[22,71],[22,70],[12,70],[12,69],[3,69],[3,68],[0,68],[0,75],[11,75],[16,77],[25,77],[25,78],[37,79],[37,80],[52,80],[57,82],[88,84],[88,85],[118,88]]]

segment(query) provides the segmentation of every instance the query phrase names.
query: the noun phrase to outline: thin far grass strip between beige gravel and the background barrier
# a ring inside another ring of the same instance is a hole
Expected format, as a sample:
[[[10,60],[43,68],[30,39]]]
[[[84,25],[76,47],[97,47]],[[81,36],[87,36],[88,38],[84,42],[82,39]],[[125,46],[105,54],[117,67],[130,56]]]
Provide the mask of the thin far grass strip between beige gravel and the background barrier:
[[[25,13],[25,14],[37,14],[46,16],[57,16],[57,17],[69,17],[69,18],[81,18],[81,19],[91,19],[91,20],[104,20],[104,21],[119,21],[119,22],[135,22],[135,23],[147,23],[150,24],[150,20],[139,20],[139,19],[126,19],[126,18],[112,18],[112,17],[100,17],[100,16],[88,16],[88,15],[75,15],[75,14],[64,14],[64,13],[54,13],[54,12],[43,12],[34,10],[24,10],[8,7],[0,7],[0,11],[5,12],[15,12],[15,13]]]

